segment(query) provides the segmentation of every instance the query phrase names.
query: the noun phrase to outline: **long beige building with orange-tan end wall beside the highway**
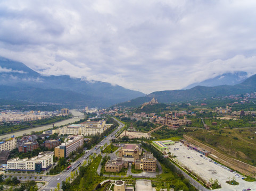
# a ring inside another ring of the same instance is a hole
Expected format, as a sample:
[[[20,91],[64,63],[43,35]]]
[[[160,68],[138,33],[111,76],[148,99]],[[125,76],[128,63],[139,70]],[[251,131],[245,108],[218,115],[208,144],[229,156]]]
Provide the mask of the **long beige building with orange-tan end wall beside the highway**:
[[[79,147],[84,144],[84,136],[82,135],[69,135],[68,140],[54,149],[54,155],[57,158],[67,158],[70,153],[76,151]]]

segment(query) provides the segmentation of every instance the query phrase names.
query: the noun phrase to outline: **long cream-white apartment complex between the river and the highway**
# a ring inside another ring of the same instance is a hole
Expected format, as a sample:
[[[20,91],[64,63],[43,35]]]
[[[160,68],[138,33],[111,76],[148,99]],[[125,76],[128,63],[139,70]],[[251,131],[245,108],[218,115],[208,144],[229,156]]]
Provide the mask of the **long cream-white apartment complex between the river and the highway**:
[[[106,121],[86,121],[79,125],[70,125],[60,128],[60,134],[92,136],[103,133]]]

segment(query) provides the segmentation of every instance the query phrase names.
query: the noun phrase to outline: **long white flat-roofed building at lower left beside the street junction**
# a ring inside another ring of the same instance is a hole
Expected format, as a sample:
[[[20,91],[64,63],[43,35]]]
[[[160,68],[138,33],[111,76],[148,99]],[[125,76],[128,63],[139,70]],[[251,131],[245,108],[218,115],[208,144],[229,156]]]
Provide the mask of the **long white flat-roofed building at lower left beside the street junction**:
[[[53,164],[53,155],[54,155],[53,151],[45,151],[43,153],[39,153],[38,156],[32,157],[31,159],[14,158],[7,161],[6,170],[35,171],[35,172],[47,170]]]

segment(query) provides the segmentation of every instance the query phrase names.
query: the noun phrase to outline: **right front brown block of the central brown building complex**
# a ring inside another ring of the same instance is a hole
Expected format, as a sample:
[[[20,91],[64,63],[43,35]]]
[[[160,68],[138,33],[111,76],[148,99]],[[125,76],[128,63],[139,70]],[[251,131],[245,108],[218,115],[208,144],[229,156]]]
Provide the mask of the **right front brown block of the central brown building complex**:
[[[147,172],[156,171],[156,158],[154,158],[152,153],[144,153],[142,159],[136,160],[134,164],[136,170]]]

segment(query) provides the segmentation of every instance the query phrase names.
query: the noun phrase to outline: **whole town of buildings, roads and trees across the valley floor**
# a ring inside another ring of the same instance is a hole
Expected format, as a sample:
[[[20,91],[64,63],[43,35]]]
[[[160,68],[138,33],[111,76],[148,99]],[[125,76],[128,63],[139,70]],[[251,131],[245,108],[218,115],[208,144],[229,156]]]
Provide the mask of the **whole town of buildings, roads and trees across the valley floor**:
[[[245,105],[250,98],[243,100],[245,102],[242,104]],[[222,124],[226,121],[225,126],[230,125],[230,119],[238,124],[241,116],[244,119],[250,116],[248,124],[253,126],[255,111],[233,111],[228,103],[225,108],[217,106],[207,109],[207,100],[203,101],[196,103],[194,107],[200,108],[196,110],[191,103],[185,106],[187,109],[184,105],[175,106],[175,110],[170,110],[170,106],[164,106],[169,107],[169,110],[150,109],[162,107],[155,98],[137,109],[86,107],[77,112],[76,116],[82,118],[77,118],[75,124],[60,127],[53,125],[42,132],[4,138],[0,143],[1,169],[4,172],[2,177],[5,181],[19,177],[21,183],[34,180],[32,187],[39,190],[54,190],[56,187],[69,190],[81,178],[81,169],[85,168],[86,171],[93,167],[91,170],[98,180],[86,181],[84,185],[91,189],[96,182],[101,181],[98,182],[99,188],[107,190],[192,190],[186,184],[178,186],[180,180],[175,177],[180,173],[193,185],[197,185],[199,190],[228,190],[232,188],[226,183],[228,181],[239,183],[237,187],[240,188],[250,185],[250,181],[246,180],[255,177],[256,168],[253,163],[228,158],[199,142],[193,133],[214,132],[218,126],[220,128],[220,121]],[[2,112],[3,123],[18,123],[17,113],[10,112],[9,117],[6,117],[8,112]],[[38,116],[39,113],[30,111],[27,115]],[[45,112],[39,115],[42,115],[42,119],[43,114]],[[20,115],[22,120],[27,120],[26,115]],[[61,109],[55,115],[70,116],[70,111]],[[30,117],[30,121],[34,119]],[[246,128],[243,129],[245,131]],[[221,128],[221,131],[225,134],[226,130]],[[229,131],[232,129],[229,128]],[[251,137],[254,139],[254,136]],[[52,175],[56,178],[51,180]],[[65,175],[64,178],[62,175]],[[129,177],[135,178],[134,181],[127,180]],[[161,177],[173,177],[173,183]],[[165,184],[159,184],[163,181]],[[253,185],[247,187],[251,189]],[[10,186],[4,188],[9,189]]]

